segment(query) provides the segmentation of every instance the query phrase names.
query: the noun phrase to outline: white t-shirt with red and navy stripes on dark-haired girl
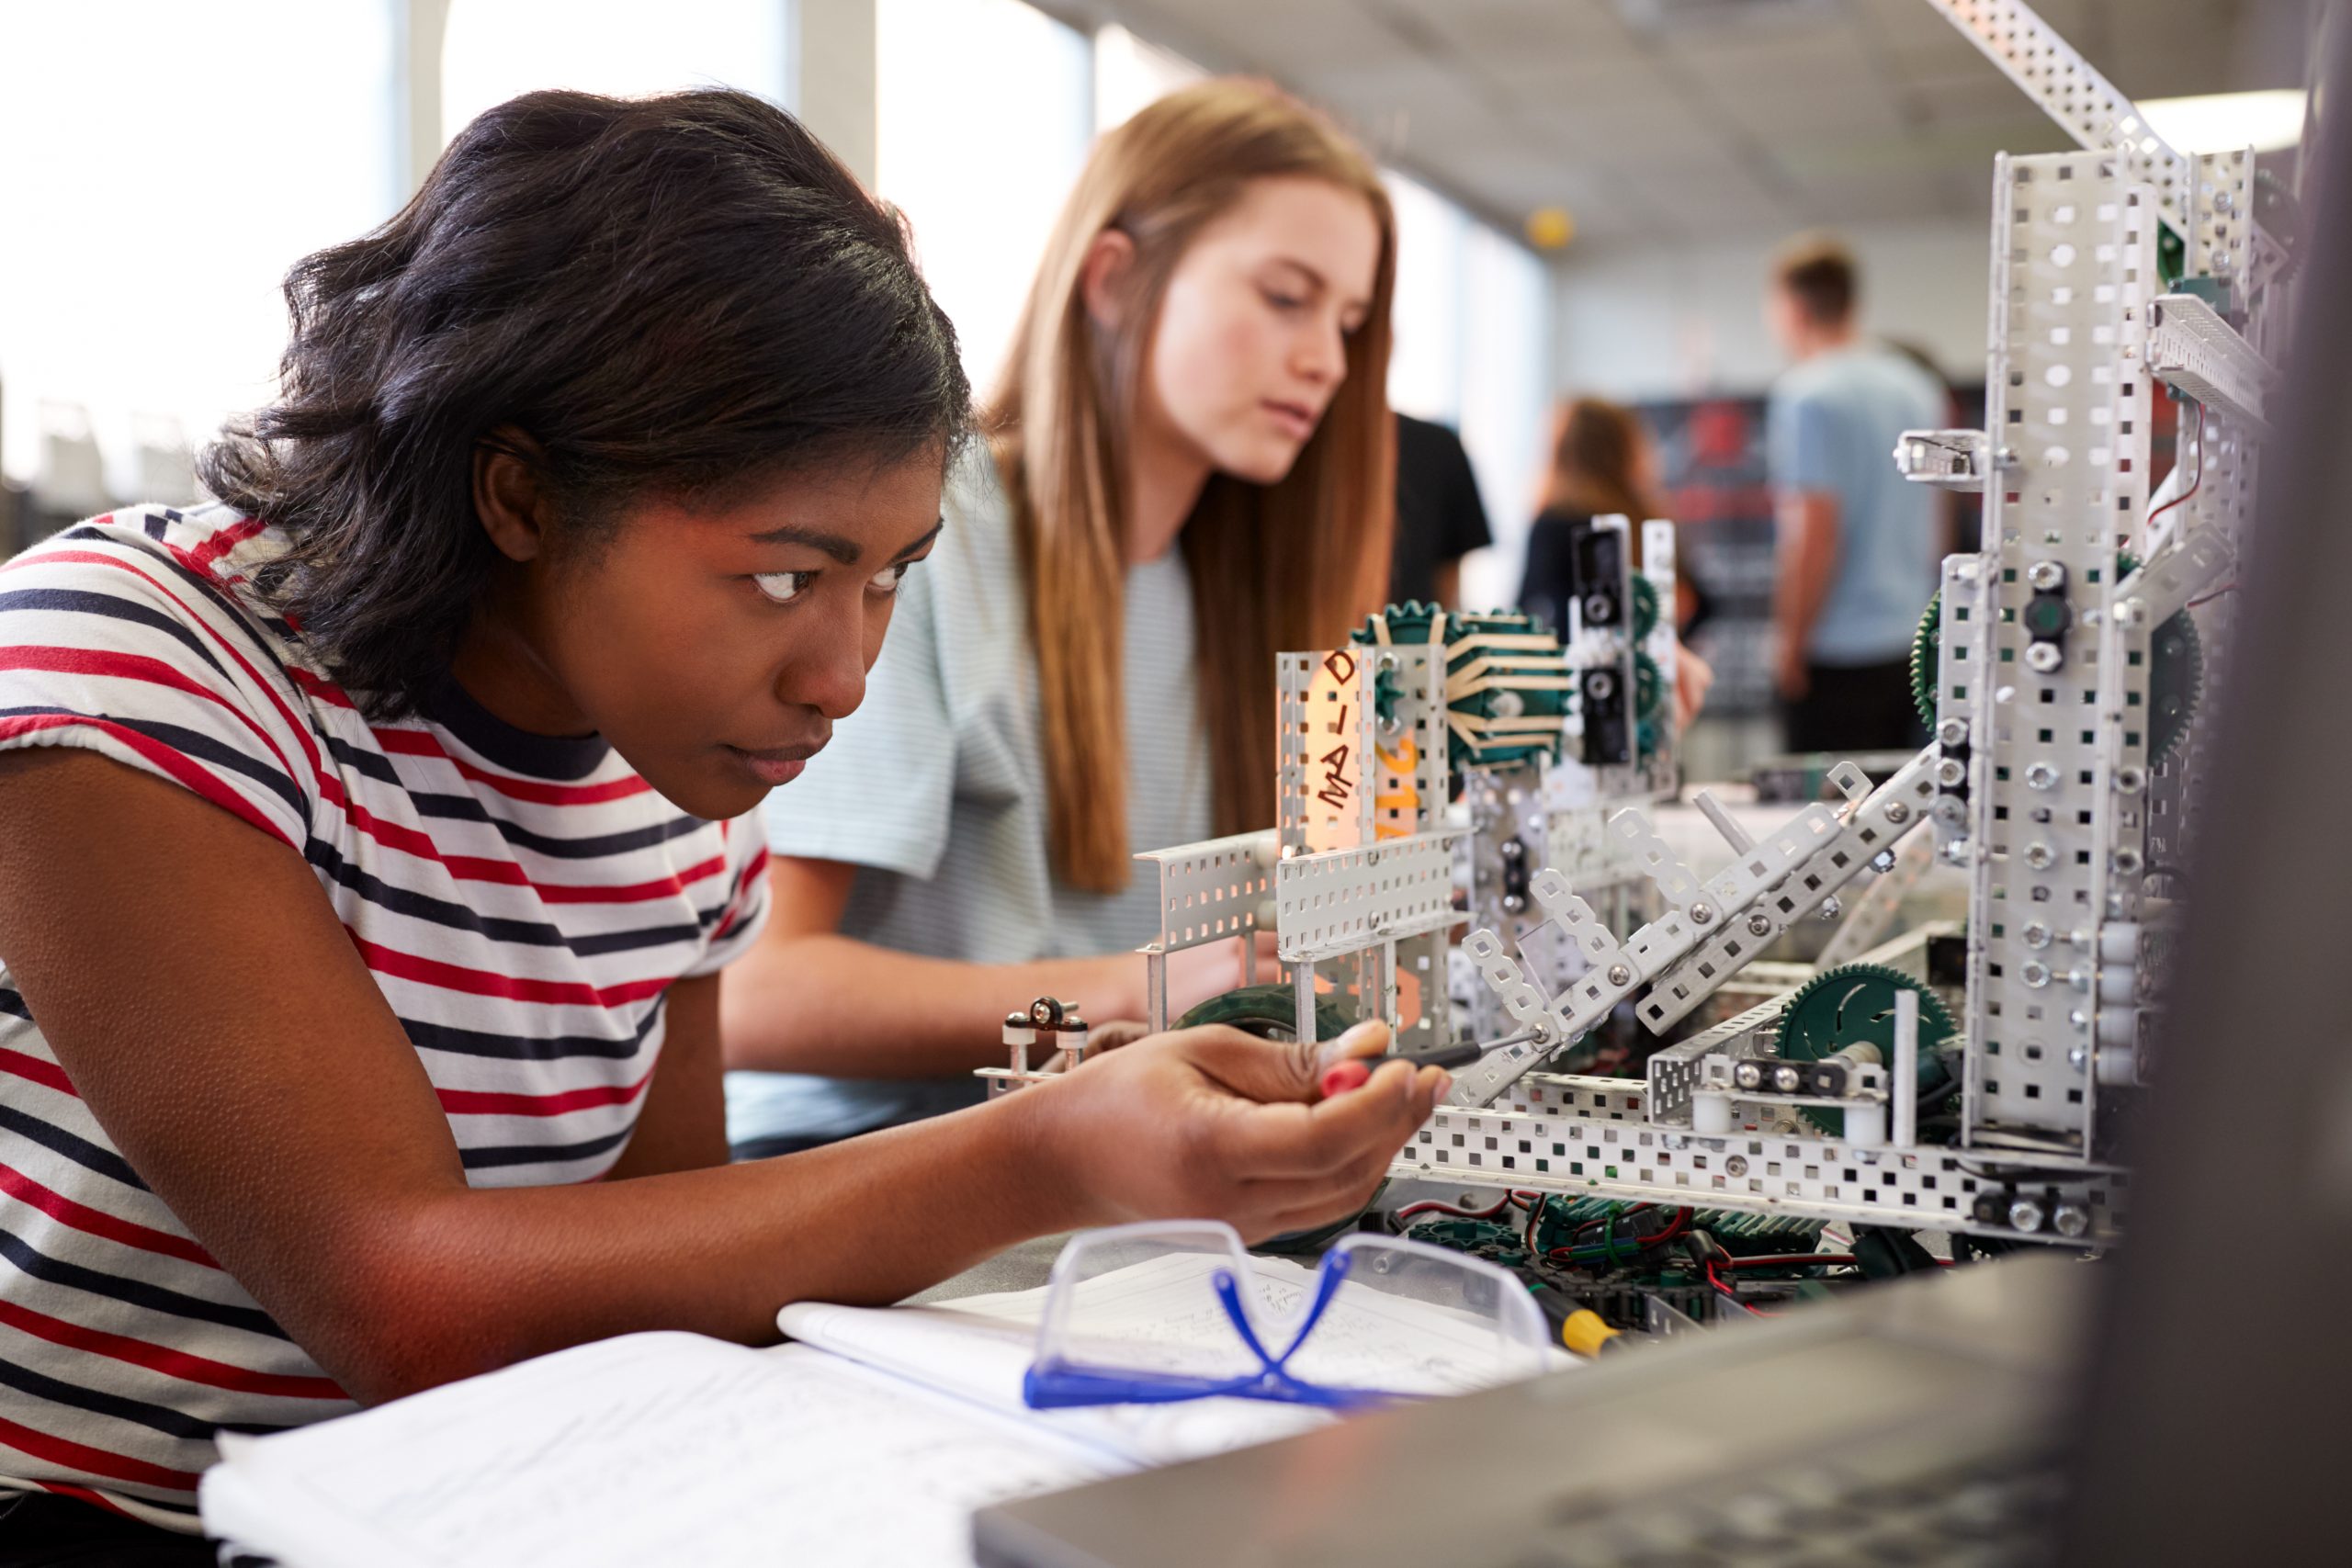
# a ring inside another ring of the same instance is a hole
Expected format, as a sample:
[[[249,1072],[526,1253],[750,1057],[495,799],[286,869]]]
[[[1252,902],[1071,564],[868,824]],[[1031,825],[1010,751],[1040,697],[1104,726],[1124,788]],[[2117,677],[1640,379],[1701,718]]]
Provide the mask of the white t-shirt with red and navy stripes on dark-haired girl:
[[[94,750],[301,853],[468,1180],[602,1175],[670,983],[767,914],[757,818],[687,816],[600,738],[527,736],[456,686],[369,724],[252,590],[280,548],[228,508],[139,508],[0,567],[0,745]],[[0,1493],[195,1530],[216,1429],[348,1408],[108,1143],[0,964]]]

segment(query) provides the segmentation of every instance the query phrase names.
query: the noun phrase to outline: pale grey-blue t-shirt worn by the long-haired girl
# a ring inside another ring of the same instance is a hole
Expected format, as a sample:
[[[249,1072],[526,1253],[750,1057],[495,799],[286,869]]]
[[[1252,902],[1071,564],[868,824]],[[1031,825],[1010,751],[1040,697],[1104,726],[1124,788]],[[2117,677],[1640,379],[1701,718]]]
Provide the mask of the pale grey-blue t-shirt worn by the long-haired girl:
[[[971,964],[1138,947],[1160,933],[1150,867],[1120,893],[1075,891],[1049,870],[1028,590],[983,451],[950,475],[943,515],[938,548],[898,588],[866,703],[767,797],[769,849],[861,867],[842,914],[842,933],[861,943]],[[1178,550],[1129,567],[1124,625],[1127,842],[1192,844],[1209,837],[1211,783]],[[990,1009],[1028,1001],[993,997]],[[729,1072],[727,1135],[847,1138],[978,1100],[969,1074]]]

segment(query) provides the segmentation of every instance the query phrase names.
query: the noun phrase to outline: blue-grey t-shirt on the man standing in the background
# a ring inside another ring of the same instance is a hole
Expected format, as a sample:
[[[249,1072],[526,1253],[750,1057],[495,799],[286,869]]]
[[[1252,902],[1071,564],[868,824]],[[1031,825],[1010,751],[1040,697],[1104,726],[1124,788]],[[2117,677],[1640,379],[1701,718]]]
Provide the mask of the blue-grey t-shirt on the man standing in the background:
[[[1936,489],[1896,473],[1896,437],[1938,430],[1945,393],[1915,362],[1853,343],[1795,367],[1771,390],[1764,421],[1776,489],[1837,496],[1837,576],[1813,621],[1806,658],[1875,665],[1910,651],[1936,592]]]

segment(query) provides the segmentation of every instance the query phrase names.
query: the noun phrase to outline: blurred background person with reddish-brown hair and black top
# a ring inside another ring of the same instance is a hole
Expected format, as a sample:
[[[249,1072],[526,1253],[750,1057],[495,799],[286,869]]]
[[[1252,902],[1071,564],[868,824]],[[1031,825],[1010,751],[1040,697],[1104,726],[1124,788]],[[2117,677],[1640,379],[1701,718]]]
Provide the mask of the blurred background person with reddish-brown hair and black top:
[[[1552,470],[1543,484],[1543,510],[1526,531],[1526,571],[1519,576],[1519,609],[1541,616],[1566,637],[1573,588],[1571,545],[1595,517],[1630,517],[1639,524],[1665,517],[1663,465],[1649,425],[1616,402],[1571,397],[1555,421]],[[1677,550],[1679,559],[1679,550]],[[1689,571],[1675,574],[1675,635],[1689,637],[1708,616],[1708,597]],[[1689,649],[1675,658],[1675,708],[1689,724],[1715,684],[1715,672]]]

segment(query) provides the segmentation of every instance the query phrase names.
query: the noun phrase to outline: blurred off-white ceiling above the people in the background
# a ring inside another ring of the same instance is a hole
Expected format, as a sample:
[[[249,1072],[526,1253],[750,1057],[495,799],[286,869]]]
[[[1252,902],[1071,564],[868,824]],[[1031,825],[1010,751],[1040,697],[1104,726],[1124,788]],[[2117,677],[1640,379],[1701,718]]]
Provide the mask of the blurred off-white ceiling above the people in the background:
[[[2065,146],[1926,0],[1663,33],[1628,28],[1616,0],[1042,2],[1291,82],[1512,233],[1538,205],[1569,207],[1581,242],[1976,216],[1997,150]],[[2147,96],[2272,85],[2241,80],[2244,9],[2039,5]]]

